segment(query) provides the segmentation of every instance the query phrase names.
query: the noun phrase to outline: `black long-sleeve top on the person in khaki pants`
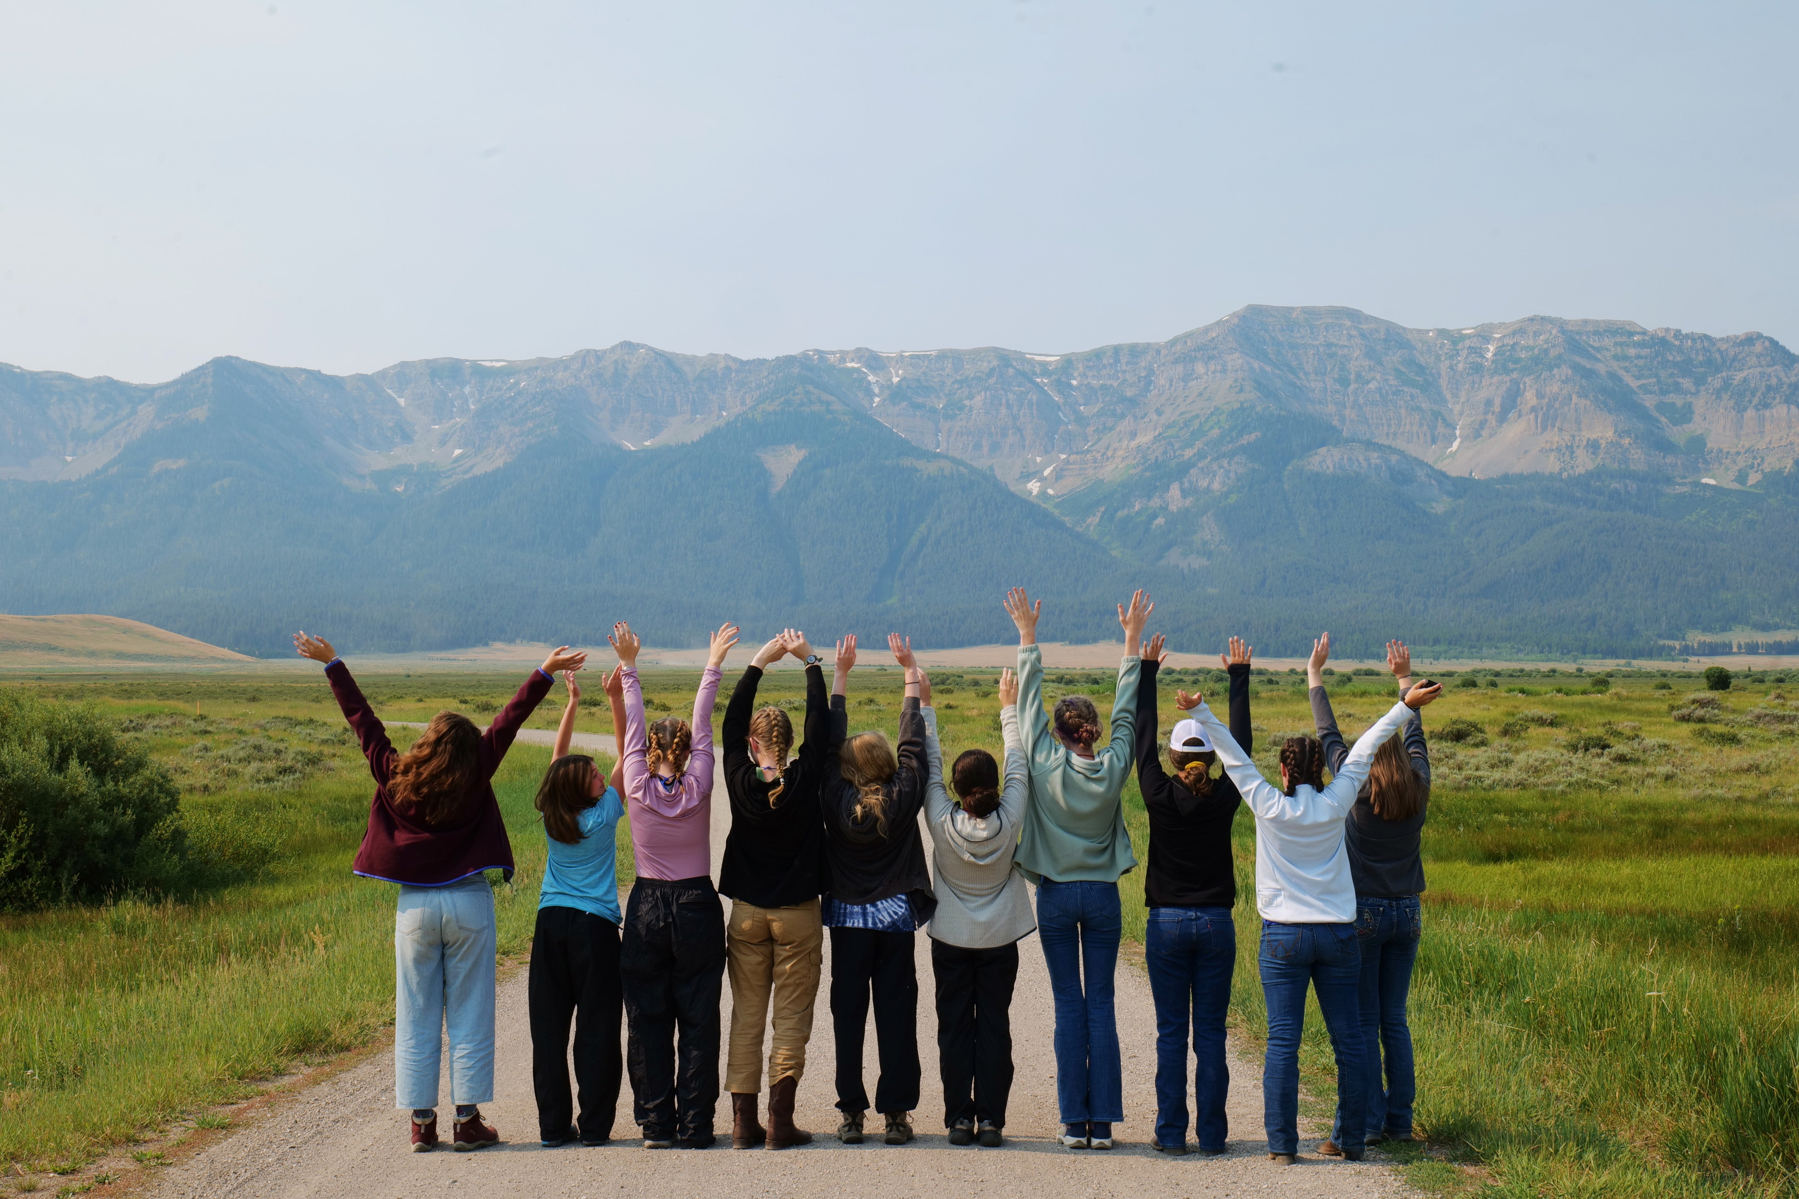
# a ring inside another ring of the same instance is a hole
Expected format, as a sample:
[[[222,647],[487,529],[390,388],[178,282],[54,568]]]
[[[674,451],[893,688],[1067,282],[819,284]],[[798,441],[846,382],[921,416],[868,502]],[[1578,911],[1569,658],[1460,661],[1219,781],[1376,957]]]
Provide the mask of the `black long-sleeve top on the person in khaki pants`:
[[[817,899],[824,890],[824,820],[819,795],[837,775],[837,751],[844,742],[838,719],[824,692],[824,671],[806,667],[806,739],[781,775],[781,795],[768,793],[756,759],[750,757],[750,717],[761,667],[738,679],[725,706],[725,795],[730,796],[730,832],[718,890],[757,908],[790,908]]]

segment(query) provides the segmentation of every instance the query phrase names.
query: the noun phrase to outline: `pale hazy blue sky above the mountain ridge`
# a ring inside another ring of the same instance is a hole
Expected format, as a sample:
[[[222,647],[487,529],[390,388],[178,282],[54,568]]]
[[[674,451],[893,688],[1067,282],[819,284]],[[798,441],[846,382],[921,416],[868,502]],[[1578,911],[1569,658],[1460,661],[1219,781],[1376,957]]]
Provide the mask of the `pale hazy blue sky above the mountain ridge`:
[[[0,0],[0,361],[1799,349],[1794,4]]]

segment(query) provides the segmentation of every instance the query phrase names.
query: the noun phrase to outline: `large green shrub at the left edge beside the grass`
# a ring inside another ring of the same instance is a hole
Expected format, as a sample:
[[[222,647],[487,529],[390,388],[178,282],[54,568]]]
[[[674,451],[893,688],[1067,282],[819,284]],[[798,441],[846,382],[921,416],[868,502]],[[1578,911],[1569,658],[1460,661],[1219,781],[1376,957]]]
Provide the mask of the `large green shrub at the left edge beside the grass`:
[[[0,911],[173,883],[178,805],[95,708],[0,692]]]

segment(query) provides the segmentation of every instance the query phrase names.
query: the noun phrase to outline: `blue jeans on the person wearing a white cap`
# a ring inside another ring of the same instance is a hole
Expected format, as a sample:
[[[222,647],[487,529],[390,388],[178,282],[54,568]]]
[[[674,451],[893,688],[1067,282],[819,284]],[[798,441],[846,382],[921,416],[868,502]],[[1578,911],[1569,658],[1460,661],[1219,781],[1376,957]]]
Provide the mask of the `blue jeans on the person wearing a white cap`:
[[[1150,908],[1146,937],[1150,994],[1155,996],[1155,1141],[1187,1143],[1187,1021],[1198,1068],[1200,1149],[1223,1150],[1229,1125],[1225,1093],[1225,1010],[1236,969],[1236,924],[1229,908]]]

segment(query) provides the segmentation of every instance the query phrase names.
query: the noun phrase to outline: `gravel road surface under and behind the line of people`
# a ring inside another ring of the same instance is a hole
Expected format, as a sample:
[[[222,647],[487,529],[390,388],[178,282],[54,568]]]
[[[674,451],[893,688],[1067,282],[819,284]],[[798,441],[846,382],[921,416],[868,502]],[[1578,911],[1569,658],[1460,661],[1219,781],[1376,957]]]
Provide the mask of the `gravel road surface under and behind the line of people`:
[[[520,741],[550,742],[552,733],[525,730]],[[610,737],[581,735],[577,748],[612,748]],[[723,852],[730,811],[723,780],[714,791],[712,865]],[[729,902],[729,901],[727,901]],[[930,946],[917,938],[919,1055],[925,1062],[923,1106],[914,1113],[919,1136],[910,1145],[840,1145],[838,1113],[831,1106],[833,1037],[829,1017],[829,940],[826,983],[801,1080],[797,1122],[820,1134],[810,1147],[783,1152],[730,1149],[730,1100],[720,1097],[720,1145],[707,1150],[646,1150],[640,1141],[615,1140],[586,1149],[543,1149],[536,1141],[536,1106],[531,1095],[531,1034],[525,1017],[525,973],[500,985],[497,1095],[482,1111],[507,1143],[459,1154],[448,1147],[414,1154],[407,1145],[407,1116],[394,1107],[394,1055],[383,1052],[318,1086],[275,1102],[270,1113],[239,1132],[169,1167],[146,1186],[162,1197],[297,1199],[300,1195],[416,1199],[419,1195],[770,1195],[804,1199],[869,1194],[912,1199],[979,1188],[984,1195],[1258,1195],[1362,1197],[1405,1195],[1389,1167],[1347,1163],[1313,1152],[1317,1140],[1301,1141],[1295,1167],[1268,1161],[1261,1136],[1261,1064],[1236,1053],[1231,1064],[1231,1152],[1222,1158],[1166,1158],[1150,1147],[1155,1124],[1155,1010],[1141,965],[1121,962],[1117,973],[1119,1039],[1124,1044],[1124,1124],[1115,1125],[1117,1149],[1067,1150],[1054,1136],[1056,1059],[1051,1046],[1054,1007],[1049,974],[1036,938],[1020,946],[1018,989],[1013,999],[1013,1052],[1018,1064],[1011,1097],[1011,1125],[1004,1149],[952,1147],[943,1136],[941,1084],[935,1073],[935,1014],[930,1003]],[[730,987],[725,987],[723,1023],[729,1028]],[[871,1017],[873,1019],[873,1017]],[[720,1062],[723,1070],[723,1061]],[[874,1032],[865,1041],[865,1077],[874,1089]],[[443,1095],[448,1098],[448,1080]],[[763,1097],[766,1104],[766,1091]],[[448,1136],[450,1107],[439,1127]],[[630,1124],[630,1082],[619,1102],[624,1138]],[[765,1111],[766,1116],[766,1111]],[[871,1115],[871,1127],[878,1116]],[[1320,1129],[1319,1132],[1328,1132]]]

